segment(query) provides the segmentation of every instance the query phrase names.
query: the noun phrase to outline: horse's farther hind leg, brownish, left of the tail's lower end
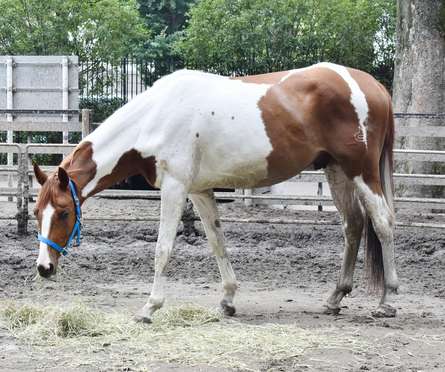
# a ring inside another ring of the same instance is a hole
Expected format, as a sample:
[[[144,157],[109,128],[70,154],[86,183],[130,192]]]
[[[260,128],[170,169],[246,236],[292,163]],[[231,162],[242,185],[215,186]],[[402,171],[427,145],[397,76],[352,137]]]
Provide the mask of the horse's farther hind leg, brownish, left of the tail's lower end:
[[[325,169],[334,204],[340,212],[343,222],[345,250],[337,285],[327,301],[327,313],[338,314],[340,301],[351,292],[355,262],[360,246],[364,225],[364,213],[354,190],[353,182],[348,179],[337,164]]]

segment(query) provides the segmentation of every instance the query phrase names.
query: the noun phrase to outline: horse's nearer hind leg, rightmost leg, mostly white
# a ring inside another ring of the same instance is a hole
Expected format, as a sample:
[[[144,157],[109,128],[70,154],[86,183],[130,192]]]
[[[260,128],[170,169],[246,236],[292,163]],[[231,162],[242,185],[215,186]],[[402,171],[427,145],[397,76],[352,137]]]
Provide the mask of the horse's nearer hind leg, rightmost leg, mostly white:
[[[370,177],[368,177],[370,178]],[[396,309],[389,305],[389,295],[397,293],[399,285],[395,263],[394,263],[394,213],[389,207],[382,191],[378,176],[365,181],[362,176],[354,177],[354,185],[359,193],[366,213],[371,219],[368,224],[367,257],[375,285],[381,285],[383,279],[383,296],[375,316],[395,316]],[[378,239],[372,238],[372,234]],[[373,256],[370,255],[372,253]]]

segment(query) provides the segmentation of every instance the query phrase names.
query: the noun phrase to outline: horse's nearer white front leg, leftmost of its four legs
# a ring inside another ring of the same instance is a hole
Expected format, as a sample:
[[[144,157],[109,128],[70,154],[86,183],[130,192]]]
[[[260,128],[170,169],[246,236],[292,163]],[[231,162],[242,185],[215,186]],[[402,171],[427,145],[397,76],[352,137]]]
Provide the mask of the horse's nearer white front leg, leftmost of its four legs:
[[[161,186],[161,220],[155,253],[155,274],[150,297],[137,313],[136,321],[150,323],[153,313],[164,303],[164,269],[172,252],[187,190],[183,183],[165,175]]]

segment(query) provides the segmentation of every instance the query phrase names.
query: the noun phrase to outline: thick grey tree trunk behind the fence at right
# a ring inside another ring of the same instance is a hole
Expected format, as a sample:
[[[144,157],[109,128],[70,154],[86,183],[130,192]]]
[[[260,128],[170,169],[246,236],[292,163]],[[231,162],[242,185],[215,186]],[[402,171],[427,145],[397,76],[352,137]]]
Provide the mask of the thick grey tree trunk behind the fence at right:
[[[395,112],[445,112],[445,39],[440,27],[444,0],[398,0],[393,83]],[[443,119],[398,119],[397,126],[444,125]],[[443,150],[443,138],[398,138],[398,147]],[[398,171],[443,173],[443,164],[399,162]],[[402,190],[403,191],[403,190]],[[442,197],[443,187],[415,187],[405,194]]]

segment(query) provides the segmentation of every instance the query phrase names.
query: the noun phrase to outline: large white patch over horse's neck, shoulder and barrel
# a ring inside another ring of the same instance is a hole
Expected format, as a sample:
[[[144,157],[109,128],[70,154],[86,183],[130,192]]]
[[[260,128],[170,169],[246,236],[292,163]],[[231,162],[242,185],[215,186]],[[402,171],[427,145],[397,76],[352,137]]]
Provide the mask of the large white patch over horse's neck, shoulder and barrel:
[[[272,151],[258,107],[270,87],[187,70],[158,80],[84,139],[97,169],[82,195],[132,149],[156,158],[157,186],[165,172],[194,191],[255,185]]]

